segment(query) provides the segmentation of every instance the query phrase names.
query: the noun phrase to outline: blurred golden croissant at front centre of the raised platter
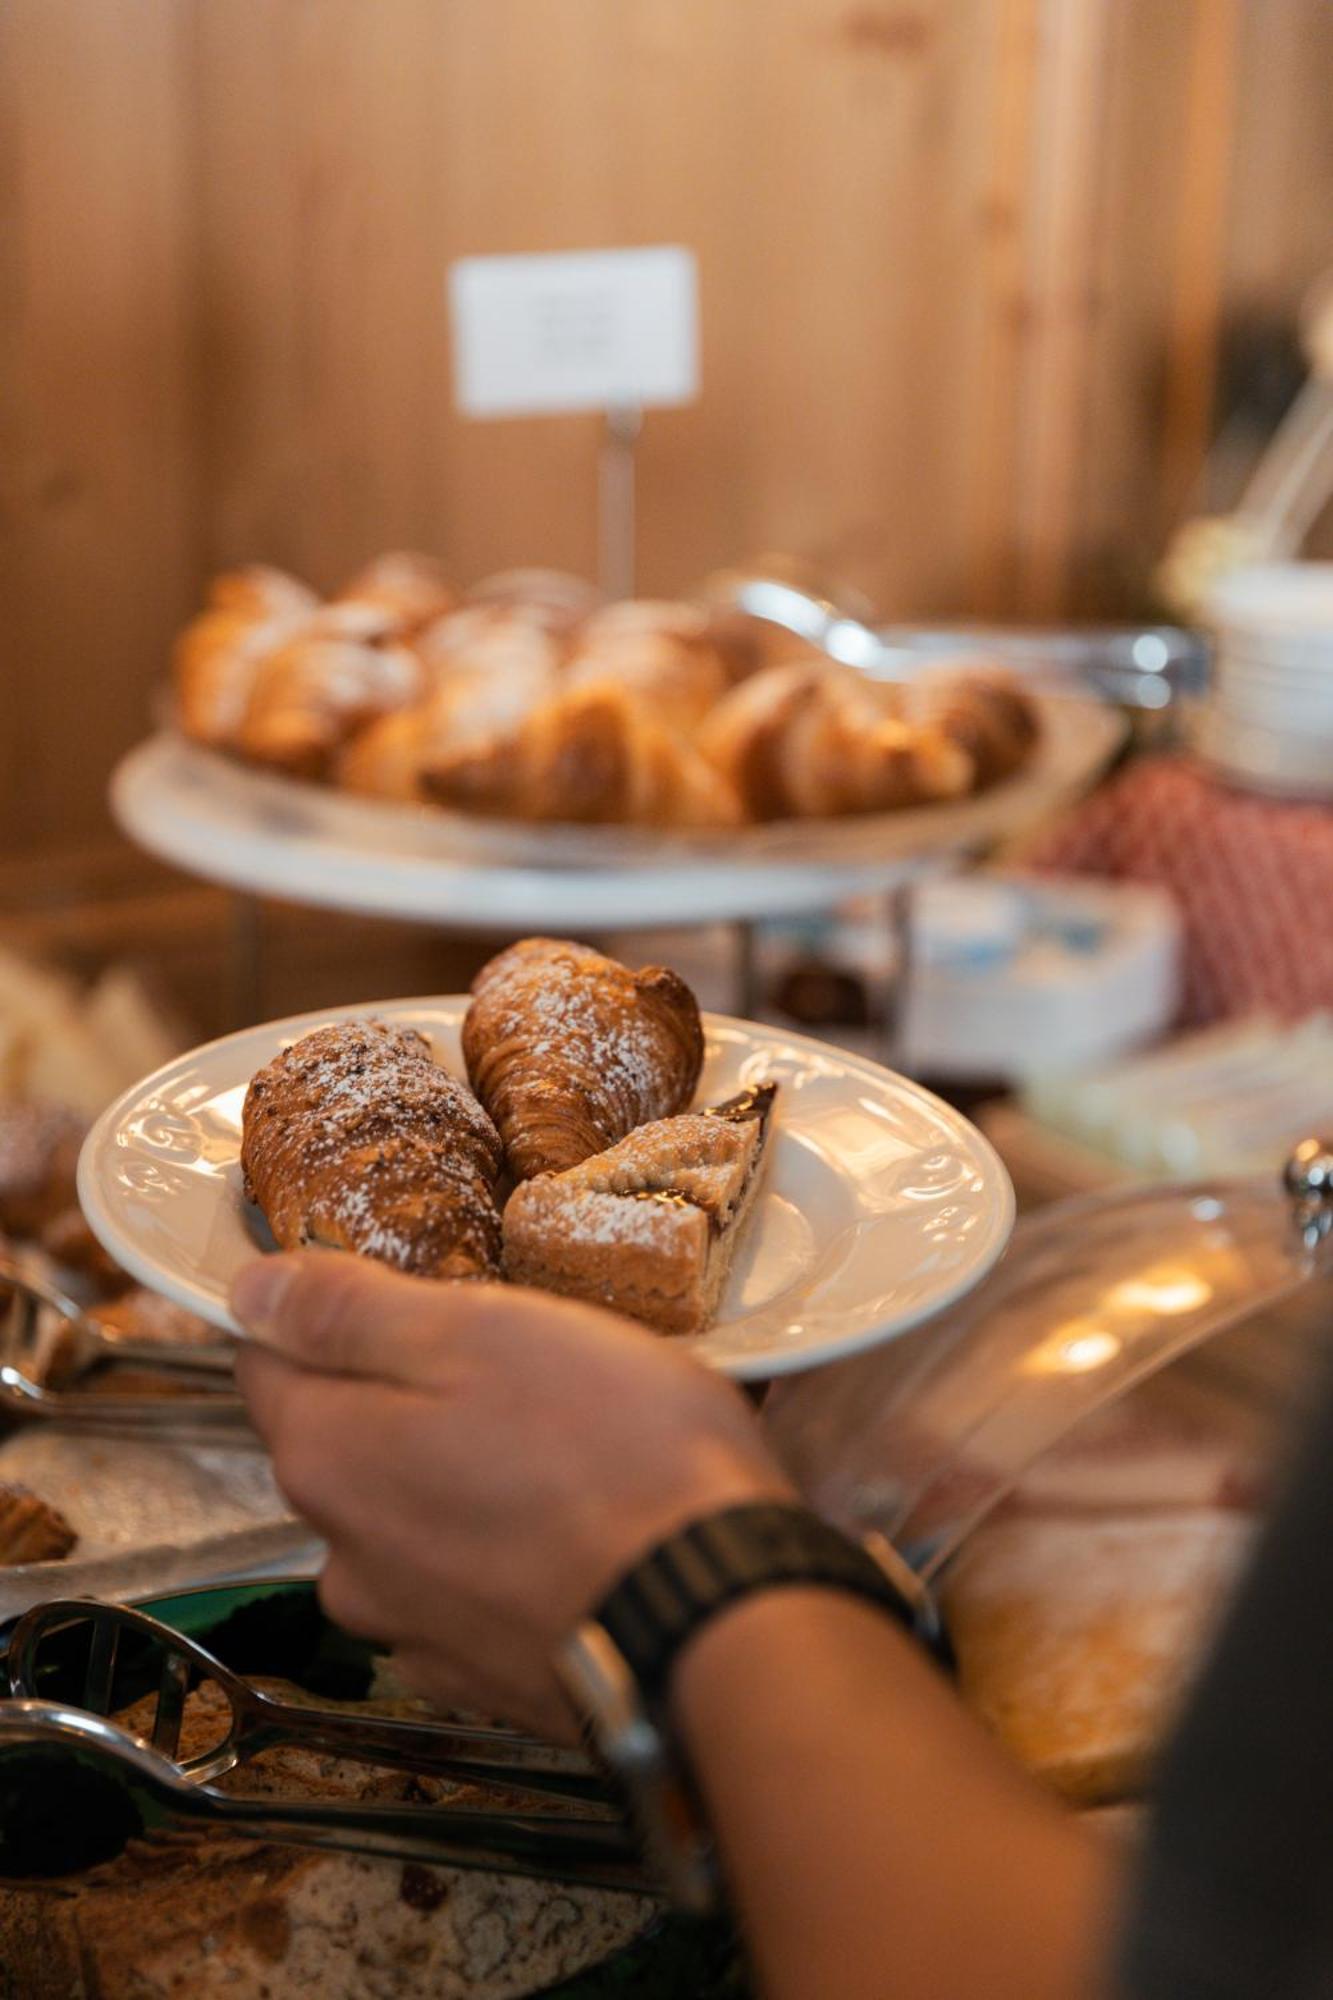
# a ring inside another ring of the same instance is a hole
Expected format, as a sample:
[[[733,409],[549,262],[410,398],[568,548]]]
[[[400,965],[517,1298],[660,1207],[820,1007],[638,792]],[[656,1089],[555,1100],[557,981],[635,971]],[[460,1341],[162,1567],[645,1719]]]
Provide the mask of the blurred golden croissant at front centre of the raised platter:
[[[731,784],[608,682],[570,688],[512,734],[428,762],[422,792],[456,812],[582,826],[735,826]]]

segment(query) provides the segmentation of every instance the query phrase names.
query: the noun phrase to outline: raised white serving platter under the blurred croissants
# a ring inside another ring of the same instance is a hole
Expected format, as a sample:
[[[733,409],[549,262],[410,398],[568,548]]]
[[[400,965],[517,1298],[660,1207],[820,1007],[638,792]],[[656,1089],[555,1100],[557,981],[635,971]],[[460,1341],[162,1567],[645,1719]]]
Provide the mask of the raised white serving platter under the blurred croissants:
[[[152,854],[290,902],[504,932],[711,924],[893,888],[1083,792],[1123,742],[1123,716],[1035,700],[1043,734],[1031,766],[979,798],[721,834],[508,826],[384,804],[250,770],[172,732],[124,758],[110,802]]]

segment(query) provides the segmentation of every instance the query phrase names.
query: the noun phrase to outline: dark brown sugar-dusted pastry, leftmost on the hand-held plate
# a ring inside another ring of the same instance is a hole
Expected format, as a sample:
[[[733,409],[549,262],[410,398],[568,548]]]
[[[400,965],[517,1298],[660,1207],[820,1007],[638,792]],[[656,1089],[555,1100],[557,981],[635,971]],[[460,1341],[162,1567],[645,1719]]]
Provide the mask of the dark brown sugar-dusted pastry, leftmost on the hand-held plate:
[[[414,1030],[302,1036],[250,1080],[240,1132],[246,1194],[284,1250],[356,1250],[418,1278],[496,1270],[500,1138]]]

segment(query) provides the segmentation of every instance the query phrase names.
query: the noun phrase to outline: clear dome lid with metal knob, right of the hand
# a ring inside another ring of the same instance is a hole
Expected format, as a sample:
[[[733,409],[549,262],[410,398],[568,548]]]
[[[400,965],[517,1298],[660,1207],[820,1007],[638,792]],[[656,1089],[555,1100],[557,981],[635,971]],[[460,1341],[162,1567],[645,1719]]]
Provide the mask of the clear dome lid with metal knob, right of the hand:
[[[1021,1222],[997,1270],[915,1338],[779,1382],[777,1452],[821,1512],[931,1584],[1093,1410],[1333,1276],[1333,1144],[1269,1180],[1139,1188]]]

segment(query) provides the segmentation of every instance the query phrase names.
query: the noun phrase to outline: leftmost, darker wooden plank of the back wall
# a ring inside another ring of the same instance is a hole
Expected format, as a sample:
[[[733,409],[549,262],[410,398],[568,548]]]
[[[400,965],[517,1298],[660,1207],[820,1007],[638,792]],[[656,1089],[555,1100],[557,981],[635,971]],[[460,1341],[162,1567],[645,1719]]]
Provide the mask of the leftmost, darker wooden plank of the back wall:
[[[106,824],[198,588],[186,0],[0,8],[0,828]]]

